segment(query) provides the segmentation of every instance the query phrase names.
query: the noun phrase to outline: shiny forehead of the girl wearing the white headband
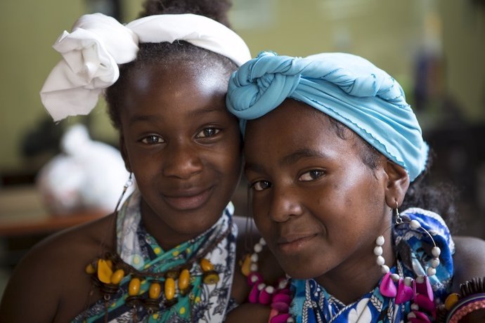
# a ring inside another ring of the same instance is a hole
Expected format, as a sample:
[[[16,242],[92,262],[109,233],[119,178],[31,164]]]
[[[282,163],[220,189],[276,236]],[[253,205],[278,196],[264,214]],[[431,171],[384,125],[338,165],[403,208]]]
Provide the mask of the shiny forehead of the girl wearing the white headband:
[[[134,69],[127,79],[121,114],[182,113],[209,107],[225,110],[227,84],[227,72],[218,65],[150,63]]]

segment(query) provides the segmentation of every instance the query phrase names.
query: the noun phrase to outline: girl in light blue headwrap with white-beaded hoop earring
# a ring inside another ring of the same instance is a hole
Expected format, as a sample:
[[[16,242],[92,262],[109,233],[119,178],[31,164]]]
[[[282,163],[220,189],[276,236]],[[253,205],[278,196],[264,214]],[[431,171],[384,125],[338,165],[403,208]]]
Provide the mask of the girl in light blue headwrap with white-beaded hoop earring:
[[[245,134],[255,223],[292,277],[290,305],[273,301],[269,322],[434,322],[453,305],[451,319],[485,308],[483,280],[447,299],[455,242],[435,212],[449,201],[406,195],[428,146],[389,74],[346,53],[264,52],[233,73],[226,103]],[[457,272],[482,276],[466,267],[485,261],[473,242]]]

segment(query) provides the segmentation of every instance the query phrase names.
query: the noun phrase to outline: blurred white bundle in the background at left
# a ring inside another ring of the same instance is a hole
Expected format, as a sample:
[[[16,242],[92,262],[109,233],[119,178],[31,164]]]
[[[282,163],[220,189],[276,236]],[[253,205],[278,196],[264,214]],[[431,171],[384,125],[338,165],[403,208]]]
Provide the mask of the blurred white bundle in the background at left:
[[[67,129],[60,148],[62,153],[37,176],[37,187],[48,209],[57,214],[82,209],[114,211],[129,177],[119,150],[91,140],[80,124]]]

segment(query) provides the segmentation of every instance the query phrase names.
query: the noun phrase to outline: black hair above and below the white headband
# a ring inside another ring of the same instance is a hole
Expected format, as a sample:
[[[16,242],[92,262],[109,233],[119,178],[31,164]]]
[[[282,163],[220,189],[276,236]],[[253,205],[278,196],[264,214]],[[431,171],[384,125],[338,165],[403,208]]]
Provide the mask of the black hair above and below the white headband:
[[[143,4],[142,17],[159,14],[194,13],[212,18],[228,26],[227,12],[231,7],[229,1],[213,0],[148,0]],[[139,50],[136,59],[127,64],[119,65],[119,78],[105,91],[105,99],[108,103],[108,114],[112,125],[121,130],[119,119],[119,107],[124,100],[124,91],[129,86],[131,74],[153,64],[175,66],[184,61],[188,64],[202,64],[207,67],[220,67],[227,72],[228,78],[231,72],[237,69],[237,65],[224,55],[208,51],[189,44],[186,41],[174,41],[162,43],[138,44]]]

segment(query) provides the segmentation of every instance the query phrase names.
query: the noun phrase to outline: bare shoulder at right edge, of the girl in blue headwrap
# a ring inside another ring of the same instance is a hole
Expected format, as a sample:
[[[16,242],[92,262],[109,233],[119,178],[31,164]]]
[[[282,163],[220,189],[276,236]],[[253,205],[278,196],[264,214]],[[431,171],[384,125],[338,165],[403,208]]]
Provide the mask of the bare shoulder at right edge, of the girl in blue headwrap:
[[[485,240],[477,237],[455,236],[453,289],[474,277],[485,277]]]

